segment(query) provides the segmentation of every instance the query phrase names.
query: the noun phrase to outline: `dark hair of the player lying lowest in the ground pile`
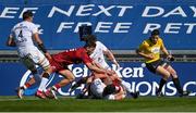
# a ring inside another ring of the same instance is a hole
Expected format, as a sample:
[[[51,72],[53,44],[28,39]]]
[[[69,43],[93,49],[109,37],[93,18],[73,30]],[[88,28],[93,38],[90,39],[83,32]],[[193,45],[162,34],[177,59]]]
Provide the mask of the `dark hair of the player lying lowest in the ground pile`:
[[[112,95],[115,92],[115,86],[113,84],[107,85],[103,89],[102,97],[106,97],[108,95]]]

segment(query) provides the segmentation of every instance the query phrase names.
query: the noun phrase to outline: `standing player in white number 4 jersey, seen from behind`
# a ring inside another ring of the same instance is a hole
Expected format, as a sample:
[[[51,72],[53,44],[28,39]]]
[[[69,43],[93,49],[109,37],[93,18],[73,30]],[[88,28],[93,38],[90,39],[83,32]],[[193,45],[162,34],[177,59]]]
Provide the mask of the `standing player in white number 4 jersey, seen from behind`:
[[[40,80],[40,86],[36,96],[39,98],[46,98],[42,93],[48,77],[51,74],[51,67],[49,61],[44,55],[42,52],[34,45],[35,40],[38,45],[38,48],[45,53],[47,58],[50,58],[50,54],[45,49],[42,41],[38,35],[38,28],[33,23],[33,13],[32,11],[26,11],[23,13],[23,22],[17,23],[11,30],[7,45],[10,47],[16,47],[19,56],[24,65],[32,71],[33,75],[28,83],[17,89],[17,96],[22,99],[24,89],[35,84],[36,80]],[[40,65],[44,68],[42,78],[36,70],[35,65]]]

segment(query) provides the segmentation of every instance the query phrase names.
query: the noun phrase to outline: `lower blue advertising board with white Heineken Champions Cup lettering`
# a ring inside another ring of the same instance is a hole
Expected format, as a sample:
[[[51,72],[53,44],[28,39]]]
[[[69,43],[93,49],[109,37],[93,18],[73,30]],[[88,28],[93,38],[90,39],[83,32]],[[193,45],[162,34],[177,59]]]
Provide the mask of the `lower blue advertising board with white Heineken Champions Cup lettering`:
[[[118,73],[122,79],[131,84],[132,90],[139,90],[140,96],[155,96],[156,89],[160,80],[160,76],[154,75],[147,71],[146,67],[142,66],[142,63],[136,62],[121,62],[121,67],[117,67],[111,64],[112,68]],[[179,78],[181,79],[181,85],[184,90],[191,90],[191,96],[196,96],[196,77],[195,67],[196,63],[173,63],[172,66],[176,70]],[[88,70],[84,65],[70,65],[70,70],[76,77],[76,80],[81,77],[88,75]],[[0,63],[0,96],[14,96],[14,89],[29,78],[30,72],[21,63]],[[48,87],[52,86],[57,81],[62,79],[62,76],[58,74],[51,74]],[[72,83],[74,84],[74,81]],[[59,90],[61,96],[75,96],[84,87],[78,87],[75,91],[70,93],[71,85],[63,87]],[[38,88],[38,84],[32,86],[25,91],[26,96],[33,96]],[[176,89],[173,83],[169,80],[163,87],[163,93],[166,96],[177,96]]]

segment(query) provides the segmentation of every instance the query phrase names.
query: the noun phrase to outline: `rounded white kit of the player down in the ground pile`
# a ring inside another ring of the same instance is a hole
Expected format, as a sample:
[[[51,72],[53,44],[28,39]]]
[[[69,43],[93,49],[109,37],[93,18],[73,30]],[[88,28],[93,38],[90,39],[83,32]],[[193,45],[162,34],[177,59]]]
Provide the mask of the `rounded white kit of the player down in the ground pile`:
[[[101,79],[96,78],[90,85],[90,91],[95,97],[102,98],[105,87],[106,85],[101,81]]]

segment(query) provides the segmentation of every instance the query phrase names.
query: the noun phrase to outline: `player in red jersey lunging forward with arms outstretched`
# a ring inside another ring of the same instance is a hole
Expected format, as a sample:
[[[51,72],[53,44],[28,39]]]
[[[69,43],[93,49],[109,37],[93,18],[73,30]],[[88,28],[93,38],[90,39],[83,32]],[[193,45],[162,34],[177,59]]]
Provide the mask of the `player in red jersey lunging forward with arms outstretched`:
[[[70,84],[75,79],[74,74],[68,68],[68,65],[70,64],[84,63],[89,70],[96,73],[112,75],[113,71],[99,68],[95,63],[93,63],[89,54],[94,51],[96,43],[89,42],[86,43],[83,48],[70,49],[58,54],[53,54],[51,59],[49,59],[52,71],[61,74],[64,79],[49,88],[46,91],[46,95],[49,96],[50,91],[54,95],[54,91],[57,91],[59,88]]]

